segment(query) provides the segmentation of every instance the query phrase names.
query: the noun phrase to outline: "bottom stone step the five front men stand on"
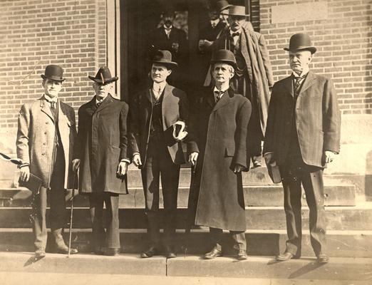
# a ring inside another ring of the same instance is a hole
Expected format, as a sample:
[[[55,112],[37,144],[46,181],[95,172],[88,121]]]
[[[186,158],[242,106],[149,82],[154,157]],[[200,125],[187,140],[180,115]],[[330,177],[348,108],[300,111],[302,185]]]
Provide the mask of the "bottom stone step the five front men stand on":
[[[237,261],[233,257],[218,257],[214,260],[203,260],[200,256],[140,259],[129,254],[119,257],[76,254],[66,258],[62,254],[48,254],[45,258],[36,260],[31,253],[0,253],[0,271],[3,272],[234,276],[254,279],[314,279],[324,280],[324,284],[331,284],[330,280],[371,281],[371,266],[372,259],[336,257],[329,264],[320,265],[311,258],[276,263],[272,257],[249,257],[247,261]]]

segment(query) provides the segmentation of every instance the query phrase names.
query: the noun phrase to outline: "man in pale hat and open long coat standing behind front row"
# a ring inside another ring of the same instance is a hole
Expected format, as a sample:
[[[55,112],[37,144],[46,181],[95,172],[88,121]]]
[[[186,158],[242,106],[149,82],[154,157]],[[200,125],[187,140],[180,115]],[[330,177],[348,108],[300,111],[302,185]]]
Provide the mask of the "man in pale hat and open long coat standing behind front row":
[[[229,28],[213,43],[216,53],[226,48],[237,60],[235,76],[230,81],[232,88],[247,97],[252,104],[252,115],[248,127],[248,143],[253,167],[261,166],[261,142],[267,122],[269,88],[274,85],[272,66],[269,61],[264,36],[253,31],[247,23],[244,6],[229,6]],[[207,79],[207,78],[206,78]],[[209,82],[205,81],[205,86]]]

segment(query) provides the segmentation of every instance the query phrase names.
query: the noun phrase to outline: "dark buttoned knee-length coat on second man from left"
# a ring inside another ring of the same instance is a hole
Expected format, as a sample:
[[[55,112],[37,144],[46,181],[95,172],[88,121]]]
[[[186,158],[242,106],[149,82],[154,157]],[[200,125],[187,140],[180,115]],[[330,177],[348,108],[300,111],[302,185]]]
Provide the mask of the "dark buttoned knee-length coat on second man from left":
[[[128,104],[110,94],[97,108],[95,97],[78,110],[74,157],[80,162],[80,191],[128,193],[125,179],[116,175],[127,157]]]

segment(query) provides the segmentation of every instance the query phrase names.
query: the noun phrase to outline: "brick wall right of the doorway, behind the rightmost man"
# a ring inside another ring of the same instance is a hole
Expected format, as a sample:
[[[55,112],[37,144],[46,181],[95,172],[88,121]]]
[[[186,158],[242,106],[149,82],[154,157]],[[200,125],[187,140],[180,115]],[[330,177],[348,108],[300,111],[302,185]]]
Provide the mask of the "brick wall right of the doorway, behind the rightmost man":
[[[293,33],[306,32],[318,48],[312,70],[334,79],[343,114],[371,114],[372,8],[369,0],[329,0],[328,18],[272,24],[272,7],[309,0],[261,0],[261,33],[267,39],[275,80],[289,74],[287,54]]]

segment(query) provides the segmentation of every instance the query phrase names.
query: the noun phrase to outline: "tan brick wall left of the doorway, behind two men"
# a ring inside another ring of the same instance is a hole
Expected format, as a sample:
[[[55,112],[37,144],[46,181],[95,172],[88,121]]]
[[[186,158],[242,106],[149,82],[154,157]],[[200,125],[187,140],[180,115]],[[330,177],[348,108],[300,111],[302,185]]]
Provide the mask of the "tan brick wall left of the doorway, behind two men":
[[[105,5],[105,0],[1,0],[0,133],[16,128],[21,105],[42,95],[40,74],[50,63],[64,69],[63,101],[77,110],[91,99],[88,75],[106,62]]]

